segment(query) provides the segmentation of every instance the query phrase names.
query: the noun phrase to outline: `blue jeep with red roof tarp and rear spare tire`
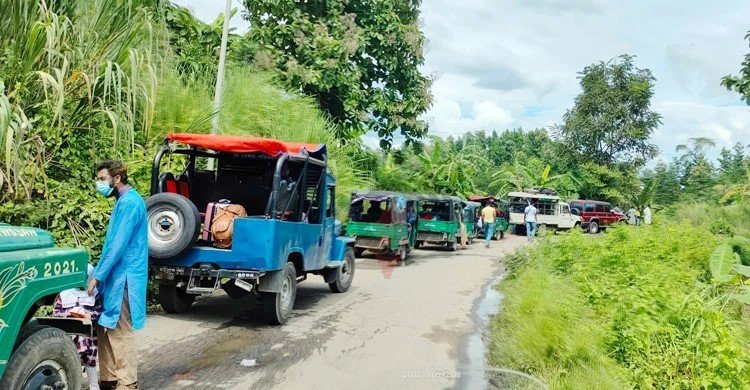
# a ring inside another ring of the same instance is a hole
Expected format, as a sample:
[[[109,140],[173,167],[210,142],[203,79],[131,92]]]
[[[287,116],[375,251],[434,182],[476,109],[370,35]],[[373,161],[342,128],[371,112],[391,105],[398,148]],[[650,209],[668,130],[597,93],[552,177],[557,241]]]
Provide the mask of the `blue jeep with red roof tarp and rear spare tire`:
[[[154,158],[147,200],[150,267],[162,308],[185,312],[196,296],[221,288],[233,298],[257,296],[266,319],[283,324],[307,275],[347,291],[353,240],[340,235],[326,160],[322,144],[169,134]],[[211,238],[219,202],[247,214],[234,218],[228,248]]]

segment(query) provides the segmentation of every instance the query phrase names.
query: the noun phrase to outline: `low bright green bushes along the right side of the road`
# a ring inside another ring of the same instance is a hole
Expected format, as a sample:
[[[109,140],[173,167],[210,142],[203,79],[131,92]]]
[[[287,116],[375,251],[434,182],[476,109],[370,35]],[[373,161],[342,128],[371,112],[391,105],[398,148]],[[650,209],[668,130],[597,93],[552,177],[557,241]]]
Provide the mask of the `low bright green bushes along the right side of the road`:
[[[581,367],[635,388],[742,387],[750,353],[740,311],[711,284],[717,242],[687,223],[542,240],[502,284],[493,363],[562,388],[589,387],[568,380]],[[570,352],[578,339],[586,353]]]

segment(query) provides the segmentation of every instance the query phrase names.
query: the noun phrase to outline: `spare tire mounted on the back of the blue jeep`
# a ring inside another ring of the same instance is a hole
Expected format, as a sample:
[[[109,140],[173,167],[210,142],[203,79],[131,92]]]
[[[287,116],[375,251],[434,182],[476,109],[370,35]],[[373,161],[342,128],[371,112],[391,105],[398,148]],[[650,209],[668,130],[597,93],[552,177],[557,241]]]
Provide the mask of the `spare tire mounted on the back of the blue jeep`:
[[[169,259],[185,254],[200,232],[200,213],[190,199],[170,192],[146,200],[148,255]]]

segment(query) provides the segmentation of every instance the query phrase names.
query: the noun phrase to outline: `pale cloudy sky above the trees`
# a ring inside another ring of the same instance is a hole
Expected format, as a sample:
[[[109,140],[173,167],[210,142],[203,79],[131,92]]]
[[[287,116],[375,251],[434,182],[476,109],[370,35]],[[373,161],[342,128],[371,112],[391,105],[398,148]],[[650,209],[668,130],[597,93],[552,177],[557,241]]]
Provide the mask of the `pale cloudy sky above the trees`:
[[[209,21],[224,4],[176,2]],[[434,135],[559,123],[580,92],[577,72],[632,54],[657,78],[664,124],[653,140],[664,158],[695,136],[750,142],[750,107],[719,85],[750,51],[750,1],[424,0],[422,19]],[[233,25],[247,28],[239,15]]]

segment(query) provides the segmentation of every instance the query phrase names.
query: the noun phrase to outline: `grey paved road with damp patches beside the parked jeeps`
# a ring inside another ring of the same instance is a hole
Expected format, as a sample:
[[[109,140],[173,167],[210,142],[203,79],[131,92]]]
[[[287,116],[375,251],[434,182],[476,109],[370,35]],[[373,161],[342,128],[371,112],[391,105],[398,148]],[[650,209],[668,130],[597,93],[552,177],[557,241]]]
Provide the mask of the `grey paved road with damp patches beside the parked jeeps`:
[[[319,277],[301,283],[282,327],[263,324],[254,298],[223,293],[197,300],[191,313],[149,316],[137,333],[141,388],[454,387],[477,329],[472,309],[502,255],[523,242],[510,236],[455,253],[428,247],[401,267],[365,255],[345,294]]]

